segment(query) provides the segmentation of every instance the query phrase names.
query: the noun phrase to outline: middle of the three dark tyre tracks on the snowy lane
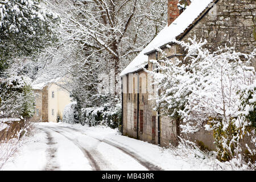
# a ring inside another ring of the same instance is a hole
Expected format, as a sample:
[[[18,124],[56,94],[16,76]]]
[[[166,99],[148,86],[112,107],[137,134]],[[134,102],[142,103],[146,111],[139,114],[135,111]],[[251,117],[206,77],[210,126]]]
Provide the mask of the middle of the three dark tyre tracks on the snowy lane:
[[[81,144],[79,144],[78,141],[67,137],[67,135],[63,134],[63,131],[57,131],[51,128],[48,128],[52,131],[55,131],[56,133],[59,133],[60,135],[63,135],[63,137],[67,138],[68,140],[70,140],[71,142],[73,142],[77,147],[79,147],[79,149],[82,151],[82,153],[84,154],[85,158],[89,159],[89,163],[90,166],[92,166],[94,168],[94,170],[96,171],[100,171],[100,170],[111,170],[108,162],[106,162],[101,154],[99,152],[97,152],[96,150],[86,150],[84,147],[81,146]],[[66,131],[67,132],[67,131]]]

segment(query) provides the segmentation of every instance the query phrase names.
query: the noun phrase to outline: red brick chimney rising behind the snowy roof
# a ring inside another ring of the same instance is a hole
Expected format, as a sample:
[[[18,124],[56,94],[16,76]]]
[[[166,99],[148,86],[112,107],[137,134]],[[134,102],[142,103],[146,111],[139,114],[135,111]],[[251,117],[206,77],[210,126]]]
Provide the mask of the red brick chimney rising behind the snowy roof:
[[[168,0],[168,26],[180,15],[180,10],[177,7],[179,0]]]

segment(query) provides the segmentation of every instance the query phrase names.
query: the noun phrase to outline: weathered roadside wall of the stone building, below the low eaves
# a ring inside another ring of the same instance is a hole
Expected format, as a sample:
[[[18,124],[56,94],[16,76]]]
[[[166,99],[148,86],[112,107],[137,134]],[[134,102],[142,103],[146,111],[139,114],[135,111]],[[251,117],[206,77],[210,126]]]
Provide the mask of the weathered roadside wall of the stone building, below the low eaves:
[[[137,109],[138,101],[138,75],[128,75],[123,77],[123,85],[127,85],[127,93],[123,93],[123,134],[131,138],[137,138],[138,127],[138,139],[149,142],[158,142],[158,113],[153,110],[154,108],[154,92],[151,90],[150,78],[144,71],[139,71],[139,109]],[[139,111],[139,118],[137,113]],[[137,126],[137,118],[139,123]],[[170,120],[166,119],[166,123]],[[170,134],[170,127],[166,127],[163,124],[163,136],[161,137],[161,144],[166,146],[170,139],[166,137],[166,134]],[[166,137],[166,138],[164,138]]]

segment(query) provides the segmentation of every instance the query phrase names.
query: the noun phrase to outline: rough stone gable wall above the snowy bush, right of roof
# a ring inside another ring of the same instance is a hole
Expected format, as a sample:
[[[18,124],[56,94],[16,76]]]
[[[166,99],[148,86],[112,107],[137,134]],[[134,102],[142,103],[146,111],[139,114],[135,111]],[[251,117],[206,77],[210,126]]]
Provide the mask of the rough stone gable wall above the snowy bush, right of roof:
[[[255,49],[255,0],[220,0],[182,39],[196,35],[206,39],[210,51],[219,46],[234,47],[237,52],[250,53]],[[252,64],[256,68],[256,62]]]

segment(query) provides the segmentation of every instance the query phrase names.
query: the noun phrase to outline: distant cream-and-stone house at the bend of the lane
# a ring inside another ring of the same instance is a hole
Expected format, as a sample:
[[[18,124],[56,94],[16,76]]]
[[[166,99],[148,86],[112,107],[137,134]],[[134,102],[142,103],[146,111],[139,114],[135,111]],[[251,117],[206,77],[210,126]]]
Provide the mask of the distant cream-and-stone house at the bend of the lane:
[[[64,107],[72,102],[67,90],[59,86],[60,78],[32,85],[35,92],[34,122],[57,122],[63,119]]]

